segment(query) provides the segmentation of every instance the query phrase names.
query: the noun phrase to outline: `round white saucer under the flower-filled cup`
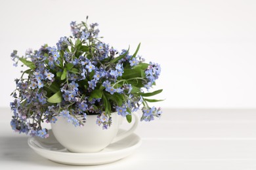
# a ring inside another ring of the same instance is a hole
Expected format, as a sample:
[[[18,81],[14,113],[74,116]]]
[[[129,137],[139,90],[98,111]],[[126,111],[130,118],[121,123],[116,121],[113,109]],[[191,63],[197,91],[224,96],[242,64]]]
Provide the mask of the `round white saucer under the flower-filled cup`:
[[[124,130],[119,130],[122,133]],[[56,141],[53,132],[49,130],[47,139],[30,137],[28,145],[37,154],[58,163],[68,165],[100,165],[121,160],[132,154],[141,144],[141,139],[135,133],[121,141],[108,145],[104,150],[96,153],[73,153]]]

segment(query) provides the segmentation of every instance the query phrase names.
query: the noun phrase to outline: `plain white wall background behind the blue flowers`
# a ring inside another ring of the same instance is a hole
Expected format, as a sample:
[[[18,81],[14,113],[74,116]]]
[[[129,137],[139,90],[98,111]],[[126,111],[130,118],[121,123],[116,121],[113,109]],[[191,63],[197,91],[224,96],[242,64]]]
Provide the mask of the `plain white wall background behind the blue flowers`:
[[[70,22],[100,24],[119,50],[142,43],[139,54],[161,64],[156,105],[186,108],[256,107],[256,1],[0,0],[0,107],[8,107],[13,49],[22,55],[70,35]]]

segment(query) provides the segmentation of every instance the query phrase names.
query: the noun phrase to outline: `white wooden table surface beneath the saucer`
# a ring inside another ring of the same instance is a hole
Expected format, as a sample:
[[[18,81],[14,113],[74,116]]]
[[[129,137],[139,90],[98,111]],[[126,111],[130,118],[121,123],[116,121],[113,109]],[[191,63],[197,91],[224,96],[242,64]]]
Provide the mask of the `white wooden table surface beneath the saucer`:
[[[135,133],[142,145],[135,153],[96,166],[37,155],[28,136],[12,131],[9,108],[0,112],[1,169],[256,169],[256,109],[163,109],[159,120],[140,122]]]

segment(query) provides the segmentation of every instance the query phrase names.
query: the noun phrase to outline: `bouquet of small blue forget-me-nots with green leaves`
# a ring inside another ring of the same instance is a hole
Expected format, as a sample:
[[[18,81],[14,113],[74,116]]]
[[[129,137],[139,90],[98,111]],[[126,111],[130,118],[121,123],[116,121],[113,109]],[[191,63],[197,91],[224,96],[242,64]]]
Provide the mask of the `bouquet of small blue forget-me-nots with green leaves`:
[[[162,90],[149,92],[156,85],[161,68],[146,63],[127,50],[118,52],[98,37],[98,24],[71,22],[72,36],[61,37],[56,46],[27,50],[22,57],[14,50],[14,66],[20,61],[28,69],[16,79],[12,92],[11,127],[19,133],[48,137],[43,122],[55,123],[58,116],[74,126],[86,124],[88,114],[98,114],[96,124],[108,129],[111,114],[117,112],[131,122],[131,112],[142,110],[141,120],[150,121],[161,110],[148,103],[160,100],[148,97]]]

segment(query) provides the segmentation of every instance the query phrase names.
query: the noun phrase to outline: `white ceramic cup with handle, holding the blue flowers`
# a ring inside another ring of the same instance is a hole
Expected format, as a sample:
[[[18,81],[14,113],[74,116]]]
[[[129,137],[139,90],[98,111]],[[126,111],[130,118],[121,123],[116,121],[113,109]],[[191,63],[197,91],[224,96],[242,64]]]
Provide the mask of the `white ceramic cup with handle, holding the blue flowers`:
[[[70,152],[99,152],[110,143],[124,139],[135,131],[139,123],[139,118],[136,114],[132,115],[135,119],[133,126],[118,135],[117,132],[123,117],[119,116],[117,112],[111,114],[112,124],[108,129],[102,129],[102,126],[96,124],[97,115],[87,115],[87,122],[83,127],[75,127],[66,118],[58,116],[58,120],[55,124],[51,124],[51,127],[57,141],[70,150]]]

